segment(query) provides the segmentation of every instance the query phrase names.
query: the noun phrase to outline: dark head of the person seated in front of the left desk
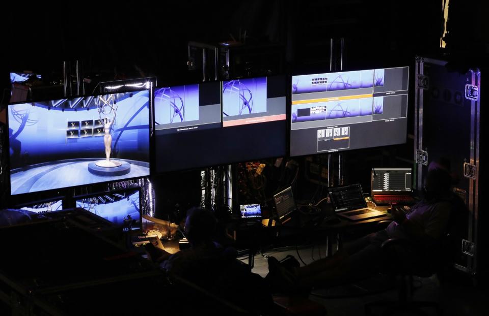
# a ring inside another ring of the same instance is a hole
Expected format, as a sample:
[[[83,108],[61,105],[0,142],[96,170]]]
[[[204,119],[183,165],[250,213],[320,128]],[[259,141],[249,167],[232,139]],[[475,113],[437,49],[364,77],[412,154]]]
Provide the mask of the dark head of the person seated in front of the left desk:
[[[211,210],[191,208],[185,219],[185,234],[193,246],[211,243],[214,239],[216,220]]]

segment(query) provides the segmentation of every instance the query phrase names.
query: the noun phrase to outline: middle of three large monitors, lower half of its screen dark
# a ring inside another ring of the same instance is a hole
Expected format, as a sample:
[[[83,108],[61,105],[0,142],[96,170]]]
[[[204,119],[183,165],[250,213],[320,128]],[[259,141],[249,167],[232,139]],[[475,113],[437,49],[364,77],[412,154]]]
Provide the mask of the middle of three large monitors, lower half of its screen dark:
[[[155,170],[284,156],[285,90],[278,76],[155,89]]]

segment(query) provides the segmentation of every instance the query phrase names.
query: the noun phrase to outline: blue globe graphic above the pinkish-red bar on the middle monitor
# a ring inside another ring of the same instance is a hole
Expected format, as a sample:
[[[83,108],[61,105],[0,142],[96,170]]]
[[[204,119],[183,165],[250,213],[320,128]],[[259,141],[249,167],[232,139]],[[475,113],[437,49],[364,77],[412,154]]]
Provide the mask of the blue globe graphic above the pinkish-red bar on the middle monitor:
[[[266,77],[223,82],[223,116],[266,112]]]

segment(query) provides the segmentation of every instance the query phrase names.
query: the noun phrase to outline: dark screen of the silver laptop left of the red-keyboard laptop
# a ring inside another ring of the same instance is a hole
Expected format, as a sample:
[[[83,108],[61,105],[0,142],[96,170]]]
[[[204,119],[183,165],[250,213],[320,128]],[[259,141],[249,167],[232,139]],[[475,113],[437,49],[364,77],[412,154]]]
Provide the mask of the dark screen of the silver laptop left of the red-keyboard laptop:
[[[367,207],[360,183],[330,187],[328,195],[335,212]]]

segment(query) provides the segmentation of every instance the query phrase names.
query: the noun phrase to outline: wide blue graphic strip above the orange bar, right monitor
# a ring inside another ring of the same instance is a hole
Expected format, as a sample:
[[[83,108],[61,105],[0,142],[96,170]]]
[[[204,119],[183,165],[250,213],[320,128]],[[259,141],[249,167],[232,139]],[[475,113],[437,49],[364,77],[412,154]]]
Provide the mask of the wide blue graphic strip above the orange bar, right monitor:
[[[373,77],[373,70],[293,76],[292,94],[371,88]]]

